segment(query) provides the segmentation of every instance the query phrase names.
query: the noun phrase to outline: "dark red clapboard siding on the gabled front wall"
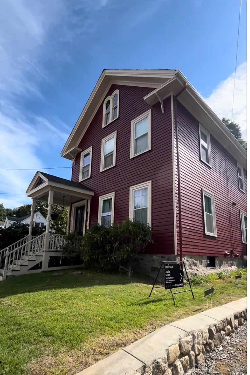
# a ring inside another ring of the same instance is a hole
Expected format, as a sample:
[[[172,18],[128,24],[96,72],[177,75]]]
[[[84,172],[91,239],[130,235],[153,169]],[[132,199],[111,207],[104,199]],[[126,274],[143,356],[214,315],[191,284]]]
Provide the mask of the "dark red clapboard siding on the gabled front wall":
[[[129,216],[129,187],[152,180],[152,230],[150,254],[174,254],[173,169],[171,99],[164,103],[164,114],[152,108],[152,149],[130,159],[131,120],[149,110],[143,97],[151,88],[112,85],[106,96],[118,89],[119,118],[102,129],[103,104],[97,110],[78,147],[92,146],[91,177],[83,183],[95,192],[91,199],[90,226],[98,222],[98,198],[115,192],[114,220]],[[117,130],[116,165],[100,172],[101,139]],[[72,169],[72,180],[79,181],[80,154]]]

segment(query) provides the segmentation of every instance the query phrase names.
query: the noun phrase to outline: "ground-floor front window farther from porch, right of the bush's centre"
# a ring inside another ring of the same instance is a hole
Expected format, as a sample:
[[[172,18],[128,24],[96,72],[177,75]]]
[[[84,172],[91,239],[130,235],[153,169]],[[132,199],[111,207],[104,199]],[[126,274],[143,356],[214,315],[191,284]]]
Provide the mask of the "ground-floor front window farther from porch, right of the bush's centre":
[[[129,188],[129,219],[151,226],[151,181]]]

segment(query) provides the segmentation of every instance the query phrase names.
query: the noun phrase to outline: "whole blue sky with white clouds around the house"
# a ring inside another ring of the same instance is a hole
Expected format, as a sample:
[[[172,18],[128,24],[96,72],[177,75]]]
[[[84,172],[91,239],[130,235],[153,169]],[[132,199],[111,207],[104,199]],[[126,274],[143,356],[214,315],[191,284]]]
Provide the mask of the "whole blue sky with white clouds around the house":
[[[1,0],[0,203],[31,203],[25,191],[41,168],[71,178],[60,152],[103,69],[180,69],[231,119],[239,8],[239,0]],[[246,138],[246,0],[233,121]]]

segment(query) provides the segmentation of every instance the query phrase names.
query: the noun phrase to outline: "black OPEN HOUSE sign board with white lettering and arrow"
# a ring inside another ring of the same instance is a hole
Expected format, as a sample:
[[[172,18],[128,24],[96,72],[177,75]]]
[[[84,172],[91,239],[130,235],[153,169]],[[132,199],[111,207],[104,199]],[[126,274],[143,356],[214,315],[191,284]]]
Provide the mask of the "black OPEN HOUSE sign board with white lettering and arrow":
[[[165,289],[183,287],[183,264],[182,262],[164,262]]]

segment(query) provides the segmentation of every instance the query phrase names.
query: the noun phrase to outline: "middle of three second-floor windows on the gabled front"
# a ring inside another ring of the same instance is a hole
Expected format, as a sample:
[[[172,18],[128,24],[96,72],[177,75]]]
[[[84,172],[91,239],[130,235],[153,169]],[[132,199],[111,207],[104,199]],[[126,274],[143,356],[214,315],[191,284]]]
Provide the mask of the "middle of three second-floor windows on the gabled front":
[[[116,131],[101,141],[100,172],[115,166],[116,160]]]

